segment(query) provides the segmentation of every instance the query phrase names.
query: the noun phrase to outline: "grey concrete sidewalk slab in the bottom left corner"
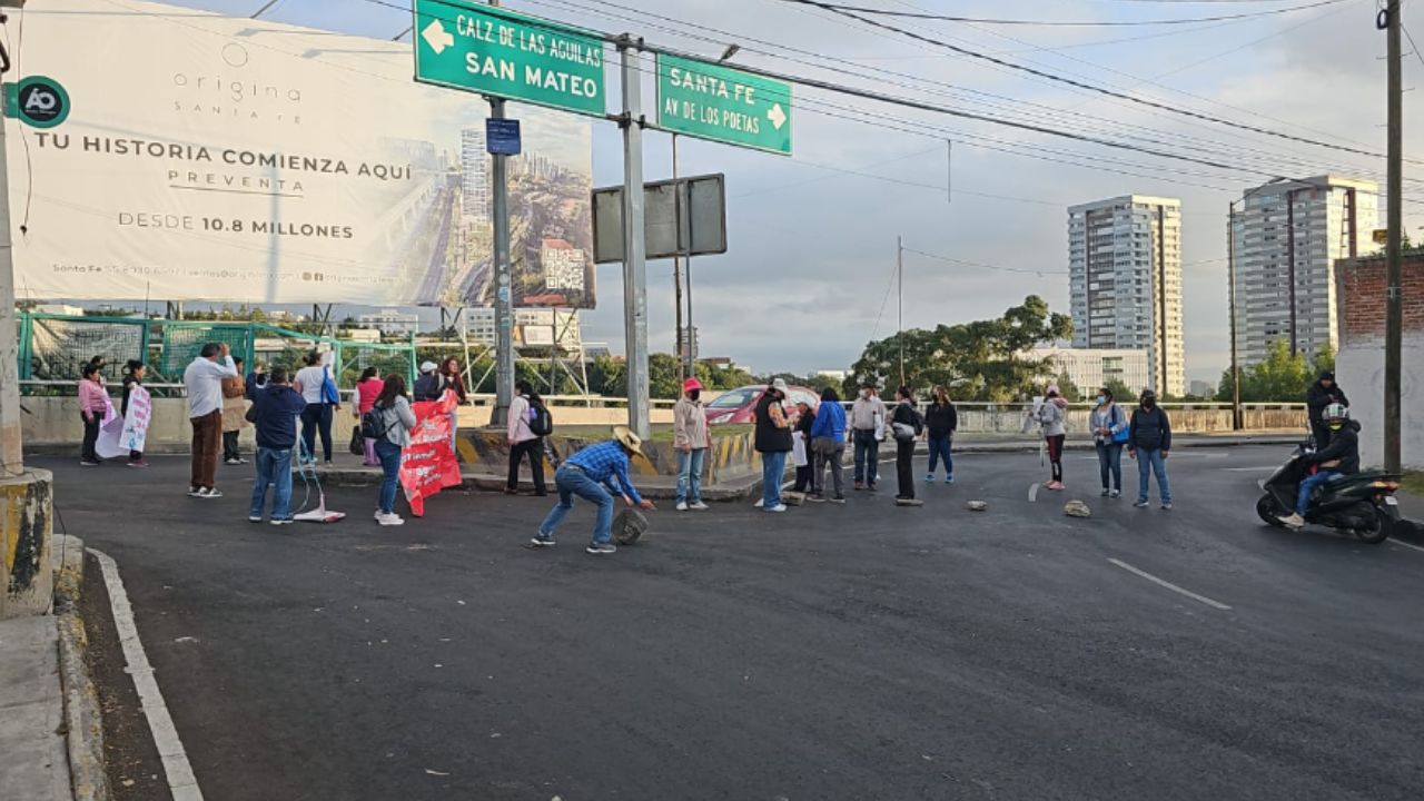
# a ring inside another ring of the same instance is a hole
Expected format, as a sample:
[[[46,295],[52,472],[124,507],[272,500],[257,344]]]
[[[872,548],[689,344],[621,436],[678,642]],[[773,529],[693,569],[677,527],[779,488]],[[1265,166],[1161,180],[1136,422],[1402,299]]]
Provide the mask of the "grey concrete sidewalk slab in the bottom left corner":
[[[0,795],[70,801],[56,617],[0,620]]]

